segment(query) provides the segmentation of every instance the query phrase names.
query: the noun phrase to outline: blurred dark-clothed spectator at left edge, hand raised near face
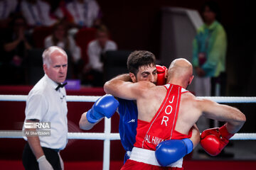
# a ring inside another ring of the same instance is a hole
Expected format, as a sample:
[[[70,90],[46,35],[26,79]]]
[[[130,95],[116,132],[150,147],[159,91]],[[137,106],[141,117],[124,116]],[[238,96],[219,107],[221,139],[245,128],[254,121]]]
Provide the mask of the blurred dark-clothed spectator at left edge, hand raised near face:
[[[25,84],[26,57],[31,49],[25,18],[15,16],[10,29],[1,34],[1,80],[3,84]]]

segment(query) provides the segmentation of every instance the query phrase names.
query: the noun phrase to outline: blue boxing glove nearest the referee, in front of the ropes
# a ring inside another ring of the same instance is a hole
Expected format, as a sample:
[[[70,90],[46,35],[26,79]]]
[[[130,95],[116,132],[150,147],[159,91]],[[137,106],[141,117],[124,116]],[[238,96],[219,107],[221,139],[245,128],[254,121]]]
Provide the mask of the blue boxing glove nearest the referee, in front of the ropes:
[[[111,118],[117,110],[119,102],[110,94],[106,94],[95,101],[92,108],[87,111],[86,118],[90,123],[96,123],[100,118]]]

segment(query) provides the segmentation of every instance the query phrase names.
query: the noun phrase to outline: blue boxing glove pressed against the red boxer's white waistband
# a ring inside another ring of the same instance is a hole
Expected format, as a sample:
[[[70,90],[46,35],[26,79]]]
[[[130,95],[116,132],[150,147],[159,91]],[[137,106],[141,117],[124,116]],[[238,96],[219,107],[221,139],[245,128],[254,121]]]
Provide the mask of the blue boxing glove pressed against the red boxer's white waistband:
[[[183,140],[166,140],[156,146],[156,160],[161,166],[172,164],[193,150],[193,142]]]

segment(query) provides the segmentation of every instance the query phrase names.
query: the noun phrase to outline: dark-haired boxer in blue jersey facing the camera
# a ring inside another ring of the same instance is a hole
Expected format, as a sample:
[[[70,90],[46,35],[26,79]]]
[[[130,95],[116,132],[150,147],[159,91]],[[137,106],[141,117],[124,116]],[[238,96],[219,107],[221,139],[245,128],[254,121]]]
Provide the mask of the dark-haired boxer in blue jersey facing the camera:
[[[163,85],[165,82],[164,67],[156,66],[156,59],[151,52],[148,51],[134,51],[127,59],[127,67],[129,74],[122,74],[120,79],[124,81],[151,81],[154,84],[161,82],[159,85]],[[105,100],[105,96],[102,96],[99,101],[95,102],[95,105],[88,112],[82,114],[80,119],[80,128],[82,130],[90,130],[95,124],[100,122],[102,118],[110,118],[117,109],[119,113],[119,135],[122,142],[122,146],[127,151],[124,157],[124,162],[129,159],[129,153],[132,151],[135,137],[137,135],[137,119],[138,111],[136,101],[124,100],[121,98],[114,99],[107,95],[108,100]],[[103,100],[102,100],[103,99]],[[103,101],[103,102],[102,102]],[[107,102],[105,102],[107,101]],[[114,103],[112,105],[109,102]],[[97,111],[95,111],[97,108]],[[197,145],[199,142],[199,132],[197,128],[193,130],[192,142]]]

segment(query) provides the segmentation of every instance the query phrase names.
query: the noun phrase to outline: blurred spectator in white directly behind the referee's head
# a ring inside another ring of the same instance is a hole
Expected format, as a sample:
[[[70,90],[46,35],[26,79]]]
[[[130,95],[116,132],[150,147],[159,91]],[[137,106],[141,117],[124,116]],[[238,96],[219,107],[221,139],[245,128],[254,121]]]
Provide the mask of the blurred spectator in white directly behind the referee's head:
[[[72,64],[74,65],[75,77],[78,77],[78,67],[81,67],[81,50],[78,45],[75,44],[75,40],[72,36],[68,35],[68,28],[63,21],[55,23],[53,26],[52,35],[48,35],[44,41],[46,48],[50,46],[58,46],[64,50],[68,50],[72,55]],[[70,63],[71,64],[71,63]]]

